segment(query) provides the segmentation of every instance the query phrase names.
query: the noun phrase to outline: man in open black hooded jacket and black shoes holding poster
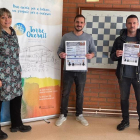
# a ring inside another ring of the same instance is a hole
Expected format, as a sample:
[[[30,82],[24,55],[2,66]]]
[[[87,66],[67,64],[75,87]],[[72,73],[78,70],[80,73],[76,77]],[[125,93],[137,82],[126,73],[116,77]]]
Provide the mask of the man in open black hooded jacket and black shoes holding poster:
[[[123,43],[140,44],[140,29],[138,17],[130,15],[126,19],[127,29],[120,31],[120,36],[115,39],[110,57],[113,61],[118,61],[116,76],[118,78],[120,94],[121,94],[121,110],[123,120],[117,126],[117,130],[124,130],[129,126],[129,95],[130,87],[133,85],[135,97],[137,101],[137,113],[139,115],[140,130],[140,61],[138,66],[123,65]],[[140,57],[140,53],[137,54]]]

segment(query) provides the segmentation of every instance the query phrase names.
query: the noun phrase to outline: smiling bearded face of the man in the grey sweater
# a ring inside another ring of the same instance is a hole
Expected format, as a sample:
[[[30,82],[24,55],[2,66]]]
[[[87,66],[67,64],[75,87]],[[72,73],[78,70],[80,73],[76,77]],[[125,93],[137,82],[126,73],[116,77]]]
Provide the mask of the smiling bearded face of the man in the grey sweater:
[[[77,31],[77,32],[80,32],[83,30],[85,26],[85,19],[83,17],[78,17],[75,19],[75,22],[74,22],[74,29]]]

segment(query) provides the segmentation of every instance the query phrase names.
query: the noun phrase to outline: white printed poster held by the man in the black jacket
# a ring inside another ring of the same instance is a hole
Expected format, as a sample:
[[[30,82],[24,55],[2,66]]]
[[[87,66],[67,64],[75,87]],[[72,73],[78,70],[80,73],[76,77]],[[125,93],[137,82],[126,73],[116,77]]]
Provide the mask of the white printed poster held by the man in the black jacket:
[[[140,51],[140,44],[124,43],[122,64],[138,66],[138,53]]]

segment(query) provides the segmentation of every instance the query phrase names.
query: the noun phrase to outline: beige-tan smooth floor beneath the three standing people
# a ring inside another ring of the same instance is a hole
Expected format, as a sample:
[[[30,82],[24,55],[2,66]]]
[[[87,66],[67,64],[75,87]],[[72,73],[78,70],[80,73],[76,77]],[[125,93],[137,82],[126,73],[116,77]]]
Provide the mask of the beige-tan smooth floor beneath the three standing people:
[[[116,126],[121,118],[117,117],[85,117],[89,126],[82,126],[74,116],[68,116],[62,126],[55,126],[56,119],[26,123],[32,126],[27,133],[11,133],[10,126],[2,130],[8,134],[7,140],[139,140],[137,119],[130,120],[130,127],[117,131]]]

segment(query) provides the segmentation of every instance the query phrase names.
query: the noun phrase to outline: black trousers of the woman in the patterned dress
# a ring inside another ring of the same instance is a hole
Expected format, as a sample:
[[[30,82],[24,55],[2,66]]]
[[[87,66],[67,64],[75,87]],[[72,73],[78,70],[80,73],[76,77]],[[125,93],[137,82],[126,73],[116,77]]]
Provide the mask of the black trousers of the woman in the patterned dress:
[[[21,98],[22,96],[15,97],[10,100],[10,116],[11,116],[11,127],[21,126]],[[0,112],[1,112],[2,101],[0,101]]]

